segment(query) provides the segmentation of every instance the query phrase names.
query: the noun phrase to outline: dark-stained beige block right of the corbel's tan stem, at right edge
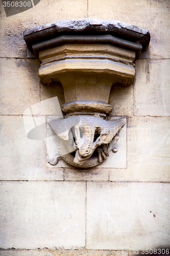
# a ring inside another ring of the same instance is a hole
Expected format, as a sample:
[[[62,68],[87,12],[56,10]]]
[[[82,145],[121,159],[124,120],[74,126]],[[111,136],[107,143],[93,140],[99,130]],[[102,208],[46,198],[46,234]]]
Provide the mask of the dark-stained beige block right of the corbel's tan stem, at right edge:
[[[135,115],[170,115],[170,60],[137,60]]]

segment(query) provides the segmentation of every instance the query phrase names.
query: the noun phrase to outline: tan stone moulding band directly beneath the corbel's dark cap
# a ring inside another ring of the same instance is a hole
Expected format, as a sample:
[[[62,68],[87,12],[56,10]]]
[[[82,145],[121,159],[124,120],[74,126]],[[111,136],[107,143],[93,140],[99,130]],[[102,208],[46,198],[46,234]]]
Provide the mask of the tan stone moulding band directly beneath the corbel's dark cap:
[[[65,37],[64,37],[65,38]],[[81,36],[80,38],[77,37],[79,40],[83,40],[83,38],[86,38],[87,36]],[[107,37],[105,37],[107,38]],[[108,37],[109,39],[110,37]],[[88,44],[84,42],[84,44],[78,43],[78,39],[73,43],[69,43],[68,41],[66,44],[62,45],[54,45],[53,48],[50,49],[40,49],[39,50],[39,58],[44,62],[46,61],[52,61],[53,58],[66,58],[68,56],[71,57],[85,57],[85,56],[98,56],[98,57],[103,57],[107,56],[108,58],[114,58],[116,60],[119,59],[119,61],[122,62],[133,62],[135,60],[135,52],[128,50],[128,49],[123,49],[123,48],[118,48],[117,46],[110,45],[109,41],[105,42],[105,44],[101,44],[100,41],[93,41],[95,39],[95,36],[89,37],[90,40],[88,40]],[[104,42],[104,41],[103,41]],[[44,42],[45,44],[45,42]]]

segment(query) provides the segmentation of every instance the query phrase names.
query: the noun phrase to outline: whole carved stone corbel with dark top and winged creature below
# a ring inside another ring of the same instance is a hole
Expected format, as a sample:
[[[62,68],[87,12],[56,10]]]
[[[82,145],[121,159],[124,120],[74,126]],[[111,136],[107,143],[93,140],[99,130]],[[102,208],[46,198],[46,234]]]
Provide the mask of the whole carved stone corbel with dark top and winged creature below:
[[[68,19],[28,29],[24,38],[41,62],[42,83],[61,82],[64,89],[65,119],[47,120],[62,159],[78,167],[103,162],[117,151],[116,134],[126,123],[107,119],[111,86],[133,82],[135,59],[147,49],[150,33],[117,20]]]

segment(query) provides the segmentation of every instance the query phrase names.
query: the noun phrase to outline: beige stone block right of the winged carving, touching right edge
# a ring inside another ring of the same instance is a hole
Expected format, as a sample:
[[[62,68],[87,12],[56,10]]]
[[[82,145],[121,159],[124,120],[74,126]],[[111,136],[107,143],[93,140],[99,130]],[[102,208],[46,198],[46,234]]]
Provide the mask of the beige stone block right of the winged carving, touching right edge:
[[[127,169],[110,170],[111,181],[170,181],[168,117],[128,121]]]

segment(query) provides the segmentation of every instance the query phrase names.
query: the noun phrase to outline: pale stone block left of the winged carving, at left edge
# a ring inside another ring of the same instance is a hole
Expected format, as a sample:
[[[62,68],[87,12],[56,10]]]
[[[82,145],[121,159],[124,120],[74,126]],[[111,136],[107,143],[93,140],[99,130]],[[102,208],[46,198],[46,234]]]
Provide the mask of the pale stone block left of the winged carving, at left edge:
[[[37,125],[44,121],[35,118]],[[2,116],[0,136],[1,180],[63,180],[60,168],[45,169],[45,142],[27,138],[23,117]]]

